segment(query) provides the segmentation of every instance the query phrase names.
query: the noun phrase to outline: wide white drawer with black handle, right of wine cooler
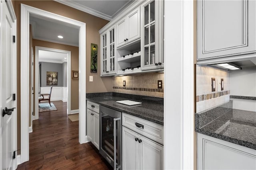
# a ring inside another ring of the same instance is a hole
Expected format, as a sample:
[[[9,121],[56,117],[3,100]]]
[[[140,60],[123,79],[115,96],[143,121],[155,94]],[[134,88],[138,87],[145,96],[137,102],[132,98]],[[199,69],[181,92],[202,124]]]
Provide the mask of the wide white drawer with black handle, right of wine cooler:
[[[122,125],[149,139],[164,144],[164,127],[150,121],[122,113]],[[143,127],[138,127],[143,125]]]

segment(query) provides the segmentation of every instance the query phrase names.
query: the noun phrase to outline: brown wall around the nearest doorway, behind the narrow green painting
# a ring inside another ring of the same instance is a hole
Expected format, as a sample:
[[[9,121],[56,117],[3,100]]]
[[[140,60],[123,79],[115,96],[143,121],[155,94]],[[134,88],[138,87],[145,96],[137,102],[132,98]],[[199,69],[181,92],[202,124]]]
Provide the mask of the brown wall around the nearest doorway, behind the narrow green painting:
[[[98,44],[98,53],[100,53],[100,35],[99,30],[108,23],[108,21],[92,16],[80,10],[76,10],[69,6],[65,6],[56,1],[44,1],[44,0],[29,0],[29,1],[12,1],[14,4],[14,10],[17,18],[17,127],[18,127],[18,150],[20,149],[20,4],[26,4],[46,10],[55,14],[66,16],[74,20],[82,21],[86,23],[86,79],[92,75],[90,73],[90,44]],[[98,60],[99,57],[98,57]],[[100,64],[98,64],[98,70],[100,70]],[[88,72],[89,71],[89,72]],[[86,85],[87,92],[111,92],[112,91],[112,77],[100,78],[100,73],[94,75],[94,82]],[[72,109],[72,108],[71,108]],[[20,154],[20,152],[18,152]]]

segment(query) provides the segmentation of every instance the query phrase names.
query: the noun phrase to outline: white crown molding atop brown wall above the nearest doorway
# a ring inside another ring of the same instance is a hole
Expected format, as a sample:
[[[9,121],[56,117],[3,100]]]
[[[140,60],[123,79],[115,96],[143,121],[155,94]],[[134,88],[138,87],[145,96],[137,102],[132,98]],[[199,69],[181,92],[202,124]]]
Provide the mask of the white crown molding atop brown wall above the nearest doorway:
[[[72,1],[63,1],[63,0],[55,0],[55,1],[56,1],[56,2],[59,2],[59,3],[61,3],[61,4],[64,4],[64,5],[66,5],[66,6],[70,6],[70,7],[72,7],[72,8],[75,8],[75,9],[77,9],[77,10],[86,12],[86,13],[91,14],[91,15],[93,15],[93,16],[97,16],[97,17],[99,17],[99,18],[103,18],[103,19],[105,19],[105,20],[108,20],[108,21],[112,20],[112,17],[111,17],[111,16],[106,15],[106,14],[103,14],[102,12],[96,11],[96,10],[94,10],[94,9],[92,9],[92,8],[88,8],[88,7],[86,7],[86,6],[83,6],[83,5],[81,5],[81,4],[78,4],[78,3],[76,3],[76,2],[72,2]]]

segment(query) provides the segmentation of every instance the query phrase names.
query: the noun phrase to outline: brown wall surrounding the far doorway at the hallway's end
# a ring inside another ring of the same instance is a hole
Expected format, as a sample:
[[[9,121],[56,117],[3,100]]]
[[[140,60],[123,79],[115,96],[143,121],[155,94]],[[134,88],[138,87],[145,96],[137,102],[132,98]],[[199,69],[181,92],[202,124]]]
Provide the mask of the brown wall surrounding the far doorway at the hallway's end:
[[[35,46],[71,51],[71,70],[78,70],[78,63],[79,63],[78,47],[33,39],[34,51],[35,51]],[[71,74],[72,73],[70,71],[70,77],[71,77]],[[71,110],[79,109],[78,97],[79,97],[78,96],[78,80],[71,79]]]

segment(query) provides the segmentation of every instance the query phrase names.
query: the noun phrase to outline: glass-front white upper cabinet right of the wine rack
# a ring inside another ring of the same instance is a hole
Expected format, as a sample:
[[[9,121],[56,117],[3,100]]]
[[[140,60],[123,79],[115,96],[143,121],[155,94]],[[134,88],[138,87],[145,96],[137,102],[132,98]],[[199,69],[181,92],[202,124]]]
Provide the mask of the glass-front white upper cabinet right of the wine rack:
[[[147,1],[142,4],[141,12],[141,69],[164,68],[163,1]]]

